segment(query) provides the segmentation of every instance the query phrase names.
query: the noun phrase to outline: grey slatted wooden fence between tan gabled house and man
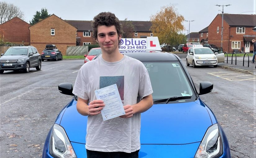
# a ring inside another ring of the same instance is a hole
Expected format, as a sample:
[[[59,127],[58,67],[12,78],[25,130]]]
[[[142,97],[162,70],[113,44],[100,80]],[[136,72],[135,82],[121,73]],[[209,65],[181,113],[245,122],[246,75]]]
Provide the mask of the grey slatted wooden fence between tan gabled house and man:
[[[72,55],[87,55],[88,54],[88,46],[69,46],[66,50],[67,56]]]

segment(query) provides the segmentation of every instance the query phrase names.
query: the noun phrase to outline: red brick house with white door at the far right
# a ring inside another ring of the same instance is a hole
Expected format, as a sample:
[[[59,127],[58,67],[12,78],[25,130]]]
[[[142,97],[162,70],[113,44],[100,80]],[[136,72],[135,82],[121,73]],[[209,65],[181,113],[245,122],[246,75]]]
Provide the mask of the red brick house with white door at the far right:
[[[224,14],[223,16],[223,51],[252,52],[252,39],[256,38],[253,28],[256,15]],[[221,46],[222,14],[218,14],[208,26],[208,43]]]

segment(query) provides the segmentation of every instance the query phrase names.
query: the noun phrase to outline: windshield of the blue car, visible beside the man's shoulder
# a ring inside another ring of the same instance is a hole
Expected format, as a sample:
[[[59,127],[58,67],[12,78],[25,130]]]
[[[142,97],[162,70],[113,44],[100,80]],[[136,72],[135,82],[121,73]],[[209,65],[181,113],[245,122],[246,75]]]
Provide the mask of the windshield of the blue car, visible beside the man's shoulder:
[[[155,61],[142,63],[149,73],[154,100],[193,95],[191,85],[178,62]]]

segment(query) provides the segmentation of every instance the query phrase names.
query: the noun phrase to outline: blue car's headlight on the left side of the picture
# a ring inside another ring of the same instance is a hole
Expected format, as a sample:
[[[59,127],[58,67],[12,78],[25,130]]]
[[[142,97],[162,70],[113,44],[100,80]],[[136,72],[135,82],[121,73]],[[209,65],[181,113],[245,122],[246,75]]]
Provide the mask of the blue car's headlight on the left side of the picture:
[[[49,153],[59,158],[76,158],[73,147],[60,125],[54,124],[52,128]]]

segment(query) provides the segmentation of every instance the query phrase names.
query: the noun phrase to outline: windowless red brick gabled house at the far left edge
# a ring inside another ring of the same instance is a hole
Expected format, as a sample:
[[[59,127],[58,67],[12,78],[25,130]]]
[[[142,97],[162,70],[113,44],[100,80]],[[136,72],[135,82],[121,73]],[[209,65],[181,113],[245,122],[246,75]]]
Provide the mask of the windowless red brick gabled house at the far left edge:
[[[18,17],[1,24],[0,31],[3,32],[4,42],[28,46],[30,42],[29,26],[30,24]]]

